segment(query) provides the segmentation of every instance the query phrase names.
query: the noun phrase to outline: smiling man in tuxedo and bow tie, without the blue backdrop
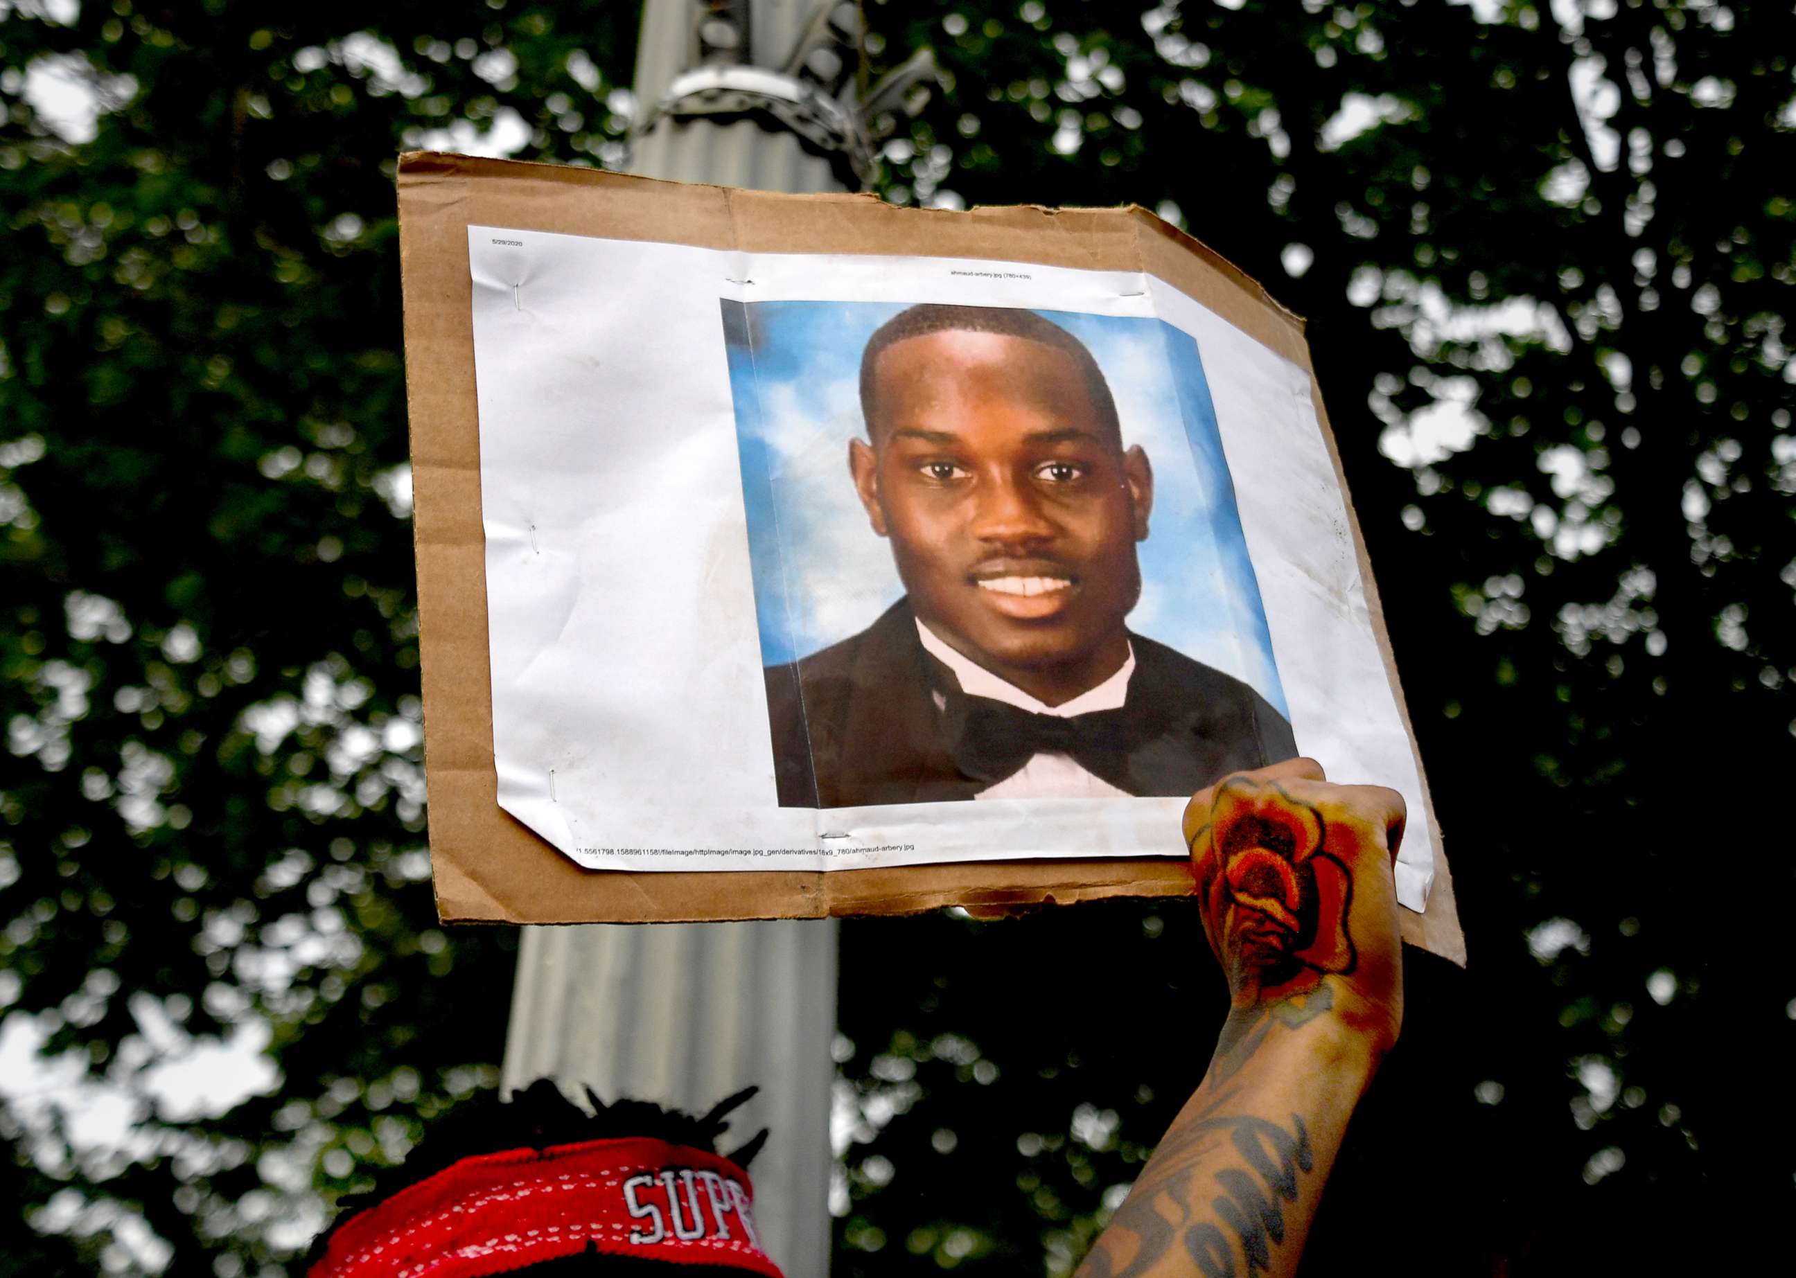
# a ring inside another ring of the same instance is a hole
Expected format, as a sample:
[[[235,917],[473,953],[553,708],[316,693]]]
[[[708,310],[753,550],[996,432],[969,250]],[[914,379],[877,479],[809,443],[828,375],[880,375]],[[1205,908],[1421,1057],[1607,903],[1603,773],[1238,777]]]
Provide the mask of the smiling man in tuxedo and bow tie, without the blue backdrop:
[[[1072,334],[911,307],[860,407],[850,476],[905,598],[767,670],[781,806],[1189,795],[1297,754],[1252,687],[1128,630],[1153,468]]]

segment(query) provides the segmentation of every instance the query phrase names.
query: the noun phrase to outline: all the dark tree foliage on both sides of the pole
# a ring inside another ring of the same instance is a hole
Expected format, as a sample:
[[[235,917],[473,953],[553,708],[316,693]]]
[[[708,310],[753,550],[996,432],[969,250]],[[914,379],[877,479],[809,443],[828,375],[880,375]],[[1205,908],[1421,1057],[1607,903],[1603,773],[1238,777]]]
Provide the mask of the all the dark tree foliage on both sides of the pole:
[[[1412,962],[1313,1267],[1713,1264],[1796,1170],[1787,5],[866,14],[950,74],[891,199],[1142,203],[1309,318],[1473,957]],[[0,1273],[278,1273],[492,1084],[510,939],[424,881],[392,156],[621,163],[634,27],[0,2]],[[844,937],[839,1271],[1069,1271],[1207,1057],[1196,917]]]

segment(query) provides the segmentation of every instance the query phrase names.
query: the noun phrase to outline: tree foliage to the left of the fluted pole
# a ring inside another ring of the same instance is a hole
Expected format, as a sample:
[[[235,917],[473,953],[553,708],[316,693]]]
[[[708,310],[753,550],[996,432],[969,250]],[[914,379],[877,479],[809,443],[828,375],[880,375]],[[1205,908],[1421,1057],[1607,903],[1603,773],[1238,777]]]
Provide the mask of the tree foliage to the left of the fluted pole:
[[[259,1273],[510,994],[427,883],[393,156],[557,97],[614,145],[634,14],[7,9],[0,1273]]]

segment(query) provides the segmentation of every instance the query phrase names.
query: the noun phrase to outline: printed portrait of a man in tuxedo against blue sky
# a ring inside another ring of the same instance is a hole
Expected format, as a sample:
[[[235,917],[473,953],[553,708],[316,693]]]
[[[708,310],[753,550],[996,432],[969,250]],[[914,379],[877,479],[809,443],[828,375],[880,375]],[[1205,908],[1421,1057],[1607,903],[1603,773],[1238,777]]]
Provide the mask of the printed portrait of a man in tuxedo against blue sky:
[[[722,320],[783,806],[1184,797],[1297,754],[1189,334]]]

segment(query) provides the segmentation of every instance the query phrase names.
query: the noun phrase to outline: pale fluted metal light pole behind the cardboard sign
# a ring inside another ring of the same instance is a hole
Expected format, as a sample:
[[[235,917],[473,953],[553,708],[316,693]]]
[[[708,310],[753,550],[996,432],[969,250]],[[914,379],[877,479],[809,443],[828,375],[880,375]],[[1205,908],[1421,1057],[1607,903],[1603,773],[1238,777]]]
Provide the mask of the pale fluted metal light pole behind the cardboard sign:
[[[634,169],[815,192],[869,181],[875,136],[920,104],[920,52],[862,79],[860,9],[826,0],[647,0]],[[704,1111],[749,1084],[756,1219],[787,1278],[830,1267],[837,928],[826,921],[524,928],[505,1088],[539,1077]]]

